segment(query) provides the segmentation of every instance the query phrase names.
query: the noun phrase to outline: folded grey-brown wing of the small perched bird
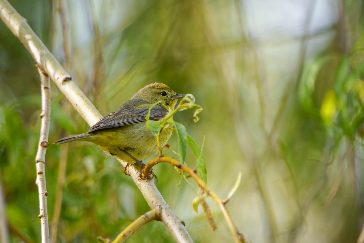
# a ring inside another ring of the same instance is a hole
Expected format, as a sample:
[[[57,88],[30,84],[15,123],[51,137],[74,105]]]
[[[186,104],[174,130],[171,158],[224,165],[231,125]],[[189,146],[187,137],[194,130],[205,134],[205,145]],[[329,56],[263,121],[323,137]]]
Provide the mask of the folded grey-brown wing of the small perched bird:
[[[148,115],[149,109],[137,108],[137,109],[118,109],[113,113],[110,113],[106,117],[100,119],[95,125],[93,125],[88,133],[95,132],[101,129],[116,128],[120,126],[131,125],[139,122],[146,122],[145,117]],[[165,117],[167,110],[161,106],[154,106],[150,110],[150,120],[159,120]]]

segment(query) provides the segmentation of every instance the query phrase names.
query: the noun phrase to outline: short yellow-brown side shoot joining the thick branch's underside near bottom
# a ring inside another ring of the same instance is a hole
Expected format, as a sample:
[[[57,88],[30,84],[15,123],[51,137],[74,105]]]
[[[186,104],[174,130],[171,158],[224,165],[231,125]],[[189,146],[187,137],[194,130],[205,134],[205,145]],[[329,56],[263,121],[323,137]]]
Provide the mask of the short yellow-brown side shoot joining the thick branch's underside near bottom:
[[[127,240],[136,230],[140,227],[149,223],[153,220],[158,220],[159,209],[153,208],[151,211],[146,212],[142,216],[138,217],[134,222],[132,222],[128,227],[123,230],[118,237],[112,243],[122,243]]]

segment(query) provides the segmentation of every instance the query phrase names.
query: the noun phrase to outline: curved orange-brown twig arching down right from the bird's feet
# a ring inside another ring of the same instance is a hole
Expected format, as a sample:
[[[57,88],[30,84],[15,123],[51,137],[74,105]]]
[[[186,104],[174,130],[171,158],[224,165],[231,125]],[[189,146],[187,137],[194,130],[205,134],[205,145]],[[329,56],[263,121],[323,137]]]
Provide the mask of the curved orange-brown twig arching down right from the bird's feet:
[[[158,157],[155,158],[151,161],[148,162],[148,164],[146,164],[146,166],[143,168],[140,177],[141,178],[149,178],[150,176],[150,172],[151,169],[154,165],[159,164],[161,162],[168,162],[174,166],[176,166],[179,169],[182,169],[182,171],[188,173],[196,182],[197,184],[205,191],[205,193],[207,195],[209,195],[210,197],[212,197],[212,199],[214,199],[214,201],[216,202],[216,204],[219,206],[227,225],[229,226],[229,229],[233,235],[234,241],[235,242],[245,242],[245,238],[243,236],[243,234],[241,234],[237,227],[235,226],[233,220],[231,219],[229,213],[226,210],[225,204],[223,203],[223,200],[220,199],[220,197],[218,197],[216,195],[215,192],[213,192],[209,187],[207,187],[207,185],[205,184],[205,182],[203,182],[201,180],[200,177],[198,177],[197,175],[197,171],[187,167],[184,164],[181,164],[179,161],[170,158],[170,157]]]

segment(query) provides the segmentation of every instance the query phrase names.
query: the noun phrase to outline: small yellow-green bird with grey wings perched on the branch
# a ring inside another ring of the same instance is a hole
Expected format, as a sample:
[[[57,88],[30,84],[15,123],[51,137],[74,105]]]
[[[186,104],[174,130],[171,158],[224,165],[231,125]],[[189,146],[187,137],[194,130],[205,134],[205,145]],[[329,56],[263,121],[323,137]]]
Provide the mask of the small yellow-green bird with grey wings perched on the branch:
[[[168,109],[174,109],[178,99],[184,94],[175,93],[164,83],[152,83],[143,87],[130,100],[100,119],[87,133],[72,135],[56,141],[63,144],[75,140],[93,142],[111,155],[117,155],[129,164],[140,162],[158,152],[157,138],[146,126],[145,117],[149,108],[150,120],[166,116]],[[162,131],[160,139],[164,146],[172,134],[171,130]]]

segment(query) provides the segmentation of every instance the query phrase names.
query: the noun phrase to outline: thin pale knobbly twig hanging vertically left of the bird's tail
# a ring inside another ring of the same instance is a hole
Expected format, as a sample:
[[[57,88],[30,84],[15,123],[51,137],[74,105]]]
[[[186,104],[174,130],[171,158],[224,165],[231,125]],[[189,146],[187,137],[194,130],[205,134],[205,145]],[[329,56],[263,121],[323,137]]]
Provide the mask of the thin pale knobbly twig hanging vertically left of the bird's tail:
[[[49,227],[48,227],[48,209],[47,209],[47,188],[46,188],[46,151],[48,148],[48,134],[51,121],[51,82],[46,73],[39,67],[38,72],[40,75],[41,94],[42,94],[42,113],[40,114],[41,126],[40,137],[37,155],[35,157],[37,168],[36,184],[39,193],[39,219],[41,222],[41,238],[42,243],[49,242]]]

